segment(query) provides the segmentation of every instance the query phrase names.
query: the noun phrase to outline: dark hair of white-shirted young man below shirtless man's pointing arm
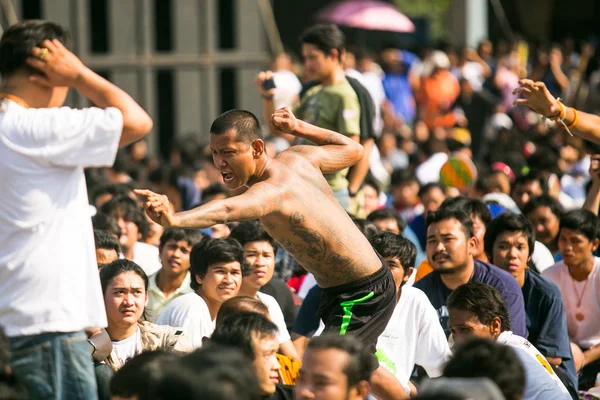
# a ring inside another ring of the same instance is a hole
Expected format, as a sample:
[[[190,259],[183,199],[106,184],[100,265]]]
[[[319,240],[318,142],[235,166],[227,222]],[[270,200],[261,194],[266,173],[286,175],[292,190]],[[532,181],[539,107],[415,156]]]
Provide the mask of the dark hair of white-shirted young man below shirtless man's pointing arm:
[[[194,245],[190,254],[190,270],[192,273],[190,287],[196,290],[200,286],[196,282],[196,276],[204,278],[209,266],[234,261],[240,263],[243,272],[244,250],[237,240],[228,237],[219,239],[203,238]]]

